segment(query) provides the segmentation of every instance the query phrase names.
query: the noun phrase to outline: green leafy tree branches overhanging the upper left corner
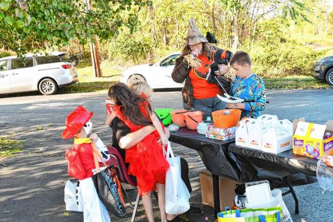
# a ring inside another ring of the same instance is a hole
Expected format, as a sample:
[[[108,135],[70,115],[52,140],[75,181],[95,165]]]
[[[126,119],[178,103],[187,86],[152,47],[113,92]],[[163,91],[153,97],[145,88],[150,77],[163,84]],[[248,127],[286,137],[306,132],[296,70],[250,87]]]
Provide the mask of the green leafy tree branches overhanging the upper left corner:
[[[0,45],[16,51],[35,52],[47,46],[65,46],[77,39],[85,44],[94,35],[113,38],[125,26],[138,25],[137,13],[150,1],[0,0]],[[133,10],[133,9],[136,10]]]

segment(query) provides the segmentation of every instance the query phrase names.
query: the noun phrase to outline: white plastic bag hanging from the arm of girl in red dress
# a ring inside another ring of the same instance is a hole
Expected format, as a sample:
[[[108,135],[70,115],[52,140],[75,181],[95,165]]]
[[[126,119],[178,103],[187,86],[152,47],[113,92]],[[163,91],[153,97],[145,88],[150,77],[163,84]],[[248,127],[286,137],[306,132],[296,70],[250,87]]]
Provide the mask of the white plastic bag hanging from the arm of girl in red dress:
[[[182,214],[190,209],[190,193],[181,179],[180,158],[174,156],[170,142],[168,143],[166,157],[170,168],[165,177],[165,212],[168,214]]]

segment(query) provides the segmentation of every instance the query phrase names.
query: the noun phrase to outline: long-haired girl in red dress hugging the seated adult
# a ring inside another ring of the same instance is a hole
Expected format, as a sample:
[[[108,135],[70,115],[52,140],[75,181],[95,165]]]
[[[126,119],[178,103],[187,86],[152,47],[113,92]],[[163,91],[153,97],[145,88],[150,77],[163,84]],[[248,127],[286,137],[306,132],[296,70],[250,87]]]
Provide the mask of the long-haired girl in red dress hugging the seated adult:
[[[167,222],[164,195],[165,174],[169,169],[169,163],[163,154],[163,146],[168,145],[168,139],[163,131],[164,126],[153,112],[149,99],[144,94],[136,95],[125,84],[117,83],[109,88],[108,96],[115,102],[115,106],[107,121],[112,121],[117,116],[130,128],[131,132],[152,124],[156,128],[155,132],[126,150],[125,161],[130,163],[128,174],[137,178],[148,220],[154,221],[150,192],[157,189],[161,219],[162,222]],[[158,139],[162,144],[157,142]]]

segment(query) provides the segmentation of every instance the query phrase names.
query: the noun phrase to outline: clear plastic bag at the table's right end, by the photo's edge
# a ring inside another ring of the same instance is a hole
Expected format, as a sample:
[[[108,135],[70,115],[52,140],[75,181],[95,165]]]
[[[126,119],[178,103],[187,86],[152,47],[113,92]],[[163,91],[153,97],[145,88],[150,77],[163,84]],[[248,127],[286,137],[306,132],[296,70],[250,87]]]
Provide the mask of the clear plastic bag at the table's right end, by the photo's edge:
[[[333,156],[323,155],[317,163],[317,178],[320,187],[324,190],[333,191]]]

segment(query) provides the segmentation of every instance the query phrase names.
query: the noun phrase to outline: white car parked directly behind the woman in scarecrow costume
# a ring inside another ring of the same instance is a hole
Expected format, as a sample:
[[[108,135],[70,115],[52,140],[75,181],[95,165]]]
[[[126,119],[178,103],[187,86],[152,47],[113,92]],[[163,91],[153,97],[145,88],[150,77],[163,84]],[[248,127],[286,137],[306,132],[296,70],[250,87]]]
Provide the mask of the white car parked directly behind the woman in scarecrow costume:
[[[145,81],[153,89],[182,88],[183,83],[176,83],[171,78],[179,55],[180,52],[174,52],[157,63],[132,66],[121,73],[120,82],[127,84],[133,81]]]

